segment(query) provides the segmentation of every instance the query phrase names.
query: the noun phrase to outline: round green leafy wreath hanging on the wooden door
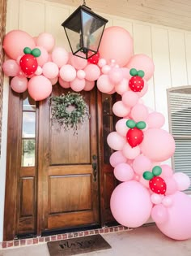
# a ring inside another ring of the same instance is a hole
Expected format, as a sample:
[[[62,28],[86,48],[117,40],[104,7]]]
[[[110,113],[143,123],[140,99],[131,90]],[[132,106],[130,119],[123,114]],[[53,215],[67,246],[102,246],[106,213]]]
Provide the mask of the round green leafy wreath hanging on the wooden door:
[[[90,118],[87,103],[79,93],[67,93],[50,98],[52,119],[63,125],[65,130],[70,128],[76,132],[79,124]],[[72,111],[70,110],[72,108]]]

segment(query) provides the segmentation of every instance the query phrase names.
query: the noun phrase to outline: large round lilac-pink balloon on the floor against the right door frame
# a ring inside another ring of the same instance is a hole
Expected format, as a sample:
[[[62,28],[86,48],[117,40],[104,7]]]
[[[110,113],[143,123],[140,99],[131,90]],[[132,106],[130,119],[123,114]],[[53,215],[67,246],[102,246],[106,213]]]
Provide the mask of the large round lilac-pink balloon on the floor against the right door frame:
[[[118,223],[137,228],[151,215],[151,199],[148,190],[138,181],[123,182],[112,192],[110,201],[113,217]]]

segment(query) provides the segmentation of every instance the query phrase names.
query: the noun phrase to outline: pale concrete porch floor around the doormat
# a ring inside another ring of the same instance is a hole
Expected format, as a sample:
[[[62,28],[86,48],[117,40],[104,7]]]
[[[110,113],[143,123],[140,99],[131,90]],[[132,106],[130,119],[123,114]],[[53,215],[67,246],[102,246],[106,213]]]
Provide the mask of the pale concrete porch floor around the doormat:
[[[89,256],[191,256],[191,240],[174,241],[155,225],[134,228],[123,232],[112,232],[102,235],[112,246],[87,254]],[[49,256],[46,244],[23,246],[17,249],[2,249],[0,256]]]

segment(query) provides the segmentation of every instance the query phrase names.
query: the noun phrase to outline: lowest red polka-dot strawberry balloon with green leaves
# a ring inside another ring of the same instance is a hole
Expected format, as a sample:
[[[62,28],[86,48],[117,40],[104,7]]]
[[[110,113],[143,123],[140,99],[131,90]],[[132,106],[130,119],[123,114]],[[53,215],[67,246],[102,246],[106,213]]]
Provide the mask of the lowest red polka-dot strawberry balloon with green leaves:
[[[154,193],[164,194],[167,190],[167,184],[163,180],[163,178],[159,177],[162,173],[162,168],[159,166],[155,166],[151,171],[145,171],[143,173],[143,178],[145,180],[149,180],[149,187]]]

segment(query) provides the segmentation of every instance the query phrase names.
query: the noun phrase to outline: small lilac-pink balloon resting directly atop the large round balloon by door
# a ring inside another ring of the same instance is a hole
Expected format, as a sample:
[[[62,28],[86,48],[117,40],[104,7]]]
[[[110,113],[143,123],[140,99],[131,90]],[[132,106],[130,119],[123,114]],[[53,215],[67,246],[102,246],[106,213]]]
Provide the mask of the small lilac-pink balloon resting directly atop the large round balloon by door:
[[[114,176],[120,181],[129,181],[134,178],[134,170],[128,163],[119,163],[114,168]]]

